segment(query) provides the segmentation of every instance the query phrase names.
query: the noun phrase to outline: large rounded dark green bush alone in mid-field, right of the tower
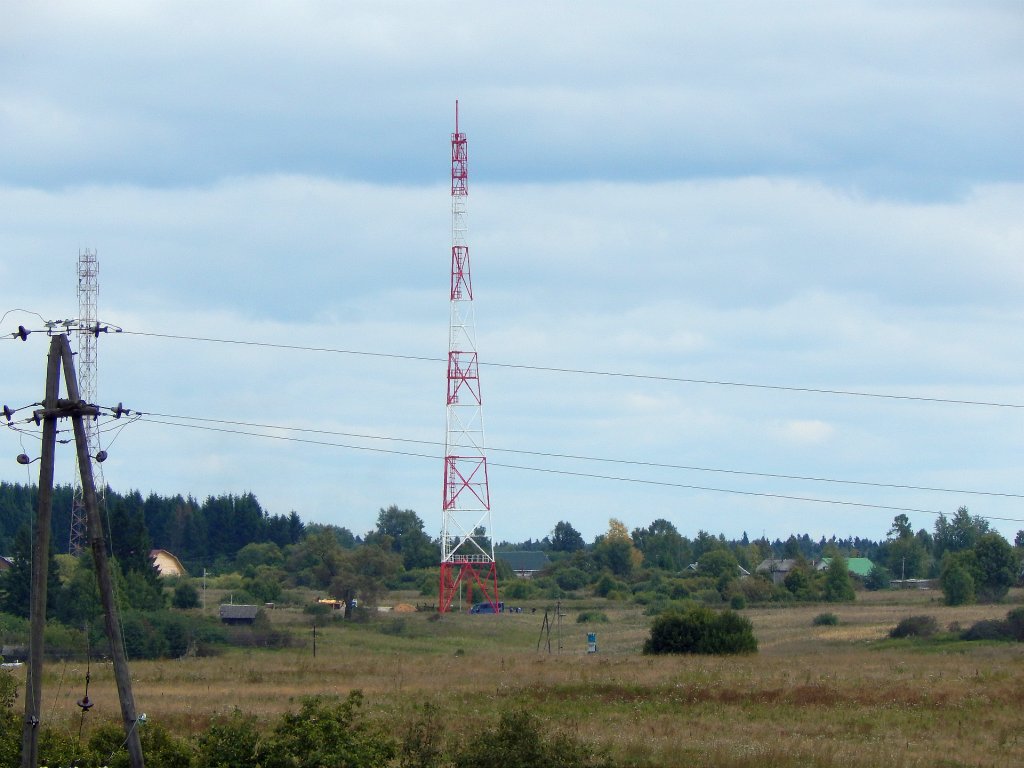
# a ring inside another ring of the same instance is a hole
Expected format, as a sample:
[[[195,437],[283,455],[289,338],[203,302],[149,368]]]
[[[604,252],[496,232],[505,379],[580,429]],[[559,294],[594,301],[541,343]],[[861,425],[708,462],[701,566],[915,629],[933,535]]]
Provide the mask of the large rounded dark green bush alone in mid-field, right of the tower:
[[[654,620],[644,653],[753,653],[758,649],[754,627],[731,610],[715,612],[694,606]]]

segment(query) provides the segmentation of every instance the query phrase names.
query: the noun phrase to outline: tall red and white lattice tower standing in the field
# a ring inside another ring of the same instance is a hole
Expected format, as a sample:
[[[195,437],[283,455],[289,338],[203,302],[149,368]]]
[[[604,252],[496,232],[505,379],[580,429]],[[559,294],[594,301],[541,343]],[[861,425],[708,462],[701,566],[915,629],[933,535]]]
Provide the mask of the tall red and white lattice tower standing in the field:
[[[483,451],[483,398],[466,244],[468,181],[466,134],[459,131],[456,101],[452,134],[452,315],[438,607],[442,613],[450,610],[465,586],[472,596],[470,602],[490,603],[497,613],[498,571],[490,530],[487,457]]]

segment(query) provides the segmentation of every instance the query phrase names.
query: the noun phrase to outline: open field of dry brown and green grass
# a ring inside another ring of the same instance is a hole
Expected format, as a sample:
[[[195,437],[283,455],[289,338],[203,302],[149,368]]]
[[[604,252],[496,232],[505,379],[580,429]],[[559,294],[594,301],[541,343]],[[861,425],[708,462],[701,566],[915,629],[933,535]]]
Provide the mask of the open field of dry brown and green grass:
[[[136,662],[132,672],[139,711],[181,734],[232,708],[271,717],[302,695],[358,688],[371,718],[395,733],[424,702],[437,707],[452,737],[524,707],[606,745],[621,765],[1024,765],[1024,645],[886,639],[910,614],[968,626],[1002,617],[1024,595],[961,607],[940,597],[858,593],[850,605],[744,610],[760,651],[738,658],[643,656],[650,617],[602,600],[563,603],[560,653],[557,625],[552,652],[546,639],[538,652],[544,605],[524,603],[515,614],[332,623],[317,630],[314,658],[310,617],[278,609],[271,620],[296,632],[295,647]],[[609,622],[577,624],[585,608]],[[813,627],[823,611],[840,624]],[[598,633],[597,654],[586,653],[588,631]],[[51,722],[77,730],[83,677],[80,664],[48,668]],[[115,718],[109,667],[93,666],[89,690],[90,720]]]

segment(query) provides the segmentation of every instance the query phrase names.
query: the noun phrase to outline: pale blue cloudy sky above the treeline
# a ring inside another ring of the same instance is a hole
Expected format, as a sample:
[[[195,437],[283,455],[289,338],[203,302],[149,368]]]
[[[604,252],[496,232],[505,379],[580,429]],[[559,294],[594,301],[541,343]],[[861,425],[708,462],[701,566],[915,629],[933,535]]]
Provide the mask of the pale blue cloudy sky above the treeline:
[[[459,99],[498,539],[1024,528],[1024,6],[582,8],[8,3],[0,333],[98,252],[106,481],[439,532]]]

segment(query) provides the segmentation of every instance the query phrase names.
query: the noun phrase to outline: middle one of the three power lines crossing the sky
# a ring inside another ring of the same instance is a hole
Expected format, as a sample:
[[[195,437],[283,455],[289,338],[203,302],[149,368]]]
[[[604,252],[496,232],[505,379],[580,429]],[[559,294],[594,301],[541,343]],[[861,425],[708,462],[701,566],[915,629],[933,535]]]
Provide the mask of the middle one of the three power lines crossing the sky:
[[[142,416],[156,416],[166,419],[179,419],[187,421],[199,421],[209,424],[226,424],[229,426],[256,427],[259,429],[282,429],[291,432],[306,432],[309,434],[332,435],[336,437],[356,437],[365,440],[388,440],[393,442],[408,442],[420,445],[441,445],[436,440],[418,440],[409,437],[390,437],[385,435],[373,435],[358,432],[340,432],[327,429],[312,429],[307,427],[288,427],[281,424],[264,424],[258,422],[233,421],[228,419],[206,419],[195,416],[178,416],[175,414],[143,413]],[[458,446],[457,446],[458,447]],[[520,456],[537,456],[545,459],[570,459],[573,461],[600,462],[603,464],[621,464],[634,467],[649,467],[651,469],[678,469],[689,472],[713,472],[718,474],[739,475],[744,477],[762,477],[776,480],[800,480],[804,482],[827,482],[841,485],[860,485],[874,488],[891,488],[894,490],[926,490],[939,494],[958,494],[968,496],[987,496],[1001,499],[1024,499],[1024,494],[1012,494],[996,490],[967,490],[965,488],[944,488],[930,485],[910,485],[895,482],[873,482],[870,480],[849,480],[835,477],[815,477],[812,475],[791,475],[775,472],[755,472],[740,469],[723,469],[718,467],[699,467],[687,464],[667,464],[662,462],[639,461],[633,459],[611,459],[597,456],[583,456],[579,454],[559,454],[544,451],[525,451],[521,449],[503,449],[489,446],[489,453],[517,454]]]

